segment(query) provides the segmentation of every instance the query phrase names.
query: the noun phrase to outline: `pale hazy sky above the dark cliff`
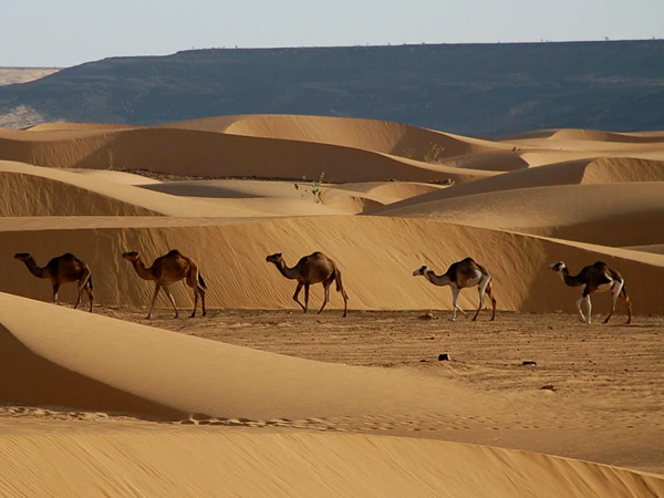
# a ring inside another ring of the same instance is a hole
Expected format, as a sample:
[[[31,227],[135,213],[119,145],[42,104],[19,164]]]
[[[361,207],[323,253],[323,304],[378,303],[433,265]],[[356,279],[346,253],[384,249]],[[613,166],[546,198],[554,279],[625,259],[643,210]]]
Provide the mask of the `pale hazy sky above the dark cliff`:
[[[664,38],[664,0],[8,0],[0,66],[256,46]]]

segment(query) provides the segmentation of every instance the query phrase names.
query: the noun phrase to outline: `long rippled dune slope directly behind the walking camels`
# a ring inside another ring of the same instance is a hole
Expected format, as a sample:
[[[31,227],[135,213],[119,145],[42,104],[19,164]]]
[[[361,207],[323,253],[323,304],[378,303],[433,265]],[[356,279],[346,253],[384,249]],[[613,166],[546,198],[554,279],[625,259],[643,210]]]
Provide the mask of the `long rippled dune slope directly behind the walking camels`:
[[[0,232],[0,259],[7,279],[0,290],[50,300],[50,286],[35,279],[14,252],[30,251],[38,263],[71,251],[87,261],[95,279],[100,303],[146,305],[154,286],[141,280],[122,259],[127,250],[139,250],[151,264],[157,256],[177,248],[194,258],[208,282],[208,305],[231,309],[295,309],[295,287],[266,262],[267,255],[282,252],[289,266],[315,250],[335,259],[342,270],[351,310],[449,309],[448,289],[432,286],[412,276],[423,263],[443,273],[454,261],[467,256],[486,266],[495,277],[498,307],[502,310],[573,312],[578,290],[567,288],[548,264],[564,260],[570,271],[604,260],[616,267],[630,282],[641,313],[661,313],[656,291],[664,278],[664,259],[654,253],[625,251],[581,242],[473,228],[427,219],[392,217],[304,217],[230,222],[196,218],[115,218],[113,225],[95,219],[49,218],[19,231]],[[111,220],[110,220],[111,221]],[[105,227],[105,228],[103,228]],[[73,289],[61,290],[61,299],[73,300]],[[70,292],[70,293],[68,293]],[[174,286],[180,308],[191,305],[184,284]],[[312,308],[320,303],[321,286],[312,288]],[[598,298],[598,310],[608,299]],[[477,305],[477,291],[461,292],[463,308]],[[159,305],[167,308],[165,298]],[[332,292],[329,309],[342,300]],[[170,312],[168,312],[170,313]]]

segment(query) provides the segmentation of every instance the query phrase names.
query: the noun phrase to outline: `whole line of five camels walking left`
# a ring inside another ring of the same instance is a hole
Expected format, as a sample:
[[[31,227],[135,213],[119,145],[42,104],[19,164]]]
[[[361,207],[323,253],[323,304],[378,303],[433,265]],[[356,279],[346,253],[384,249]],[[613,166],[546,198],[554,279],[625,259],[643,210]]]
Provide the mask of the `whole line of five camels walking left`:
[[[175,304],[175,299],[170,293],[168,286],[172,283],[184,280],[187,286],[194,290],[194,311],[190,318],[196,315],[196,308],[198,305],[198,297],[200,295],[200,303],[203,309],[203,315],[207,314],[205,309],[205,291],[207,286],[203,276],[198,271],[198,267],[191,260],[187,258],[178,250],[173,249],[168,253],[155,259],[149,268],[145,267],[145,263],[141,259],[141,253],[136,251],[124,252],[123,258],[132,263],[134,270],[138,277],[144,280],[153,280],[155,282],[155,291],[149,307],[147,318],[152,317],[157,295],[159,290],[164,289],[166,297],[173,304],[175,310],[175,318],[178,318],[178,310]],[[90,301],[90,312],[92,313],[93,294],[92,294],[92,272],[90,267],[76,258],[74,255],[68,252],[65,255],[55,257],[49,261],[45,267],[40,268],[34,258],[29,252],[19,252],[14,255],[14,258],[22,261],[28,267],[30,272],[41,279],[49,279],[53,287],[53,302],[58,304],[58,290],[60,286],[69,282],[76,282],[79,289],[79,297],[74,309],[76,309],[81,302],[83,291],[87,293]],[[313,252],[312,255],[302,257],[298,263],[289,268],[283,261],[281,253],[270,255],[266,258],[266,261],[273,263],[279,272],[287,279],[297,280],[298,286],[295,293],[293,294],[293,301],[295,301],[307,313],[309,308],[309,288],[314,283],[322,283],[324,289],[324,299],[319,310],[319,313],[324,310],[325,305],[330,300],[330,287],[333,282],[336,282],[336,291],[343,297],[343,315],[347,315],[347,301],[349,297],[343,288],[343,281],[341,277],[341,269],[330,258],[322,252]],[[611,291],[612,294],[612,307],[609,315],[604,320],[608,323],[611,315],[615,311],[618,299],[621,298],[627,308],[627,324],[632,323],[632,303],[627,297],[625,290],[625,280],[621,274],[609,268],[609,266],[602,261],[596,261],[594,264],[584,267],[577,276],[571,276],[563,261],[556,262],[549,266],[549,269],[560,274],[562,281],[570,287],[581,288],[581,297],[577,300],[577,308],[581,314],[581,320],[585,323],[591,323],[591,311],[592,304],[590,301],[590,294],[592,292]],[[447,271],[437,276],[433,270],[426,266],[419,267],[413,272],[413,276],[423,276],[429,282],[435,286],[449,286],[453,298],[453,312],[449,318],[450,321],[456,320],[457,311],[460,311],[464,317],[468,314],[461,310],[458,305],[458,297],[461,289],[478,287],[479,291],[479,305],[473,320],[477,320],[480,310],[484,308],[485,293],[491,300],[492,313],[491,320],[496,319],[496,299],[494,298],[494,291],[491,288],[492,278],[488,271],[475,262],[471,258],[466,258],[461,261],[453,263]],[[299,300],[300,291],[304,287],[304,304]],[[588,312],[584,313],[582,304],[585,302]]]

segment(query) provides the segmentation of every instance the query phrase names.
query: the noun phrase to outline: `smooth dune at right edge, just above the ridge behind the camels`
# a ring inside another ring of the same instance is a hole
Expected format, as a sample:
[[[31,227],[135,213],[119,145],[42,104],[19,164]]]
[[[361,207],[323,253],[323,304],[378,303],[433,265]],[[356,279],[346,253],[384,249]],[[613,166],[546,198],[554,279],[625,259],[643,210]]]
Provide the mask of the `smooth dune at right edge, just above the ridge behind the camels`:
[[[382,209],[603,246],[664,242],[664,183],[558,185],[468,195]],[[610,228],[609,228],[610,227]]]

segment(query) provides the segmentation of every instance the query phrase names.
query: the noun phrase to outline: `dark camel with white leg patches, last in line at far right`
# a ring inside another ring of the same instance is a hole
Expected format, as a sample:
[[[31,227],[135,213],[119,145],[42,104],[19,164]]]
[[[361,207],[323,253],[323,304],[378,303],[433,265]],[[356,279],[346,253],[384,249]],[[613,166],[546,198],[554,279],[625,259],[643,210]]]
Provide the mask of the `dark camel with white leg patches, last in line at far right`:
[[[574,277],[570,276],[570,272],[563,261],[549,264],[549,269],[558,272],[562,281],[568,286],[581,288],[582,292],[581,297],[577,300],[577,308],[581,314],[581,320],[583,320],[585,323],[591,322],[592,304],[590,302],[590,294],[592,292],[604,292],[608,290],[611,291],[613,304],[609,315],[604,320],[604,323],[609,323],[611,315],[615,311],[615,304],[618,303],[619,297],[627,307],[627,324],[632,323],[632,303],[630,302],[627,291],[625,290],[625,279],[623,279],[618,271],[609,268],[605,262],[596,261],[594,264],[584,267],[579,274]],[[585,305],[588,307],[588,317],[583,314],[583,310],[581,309],[583,301],[585,301]]]

